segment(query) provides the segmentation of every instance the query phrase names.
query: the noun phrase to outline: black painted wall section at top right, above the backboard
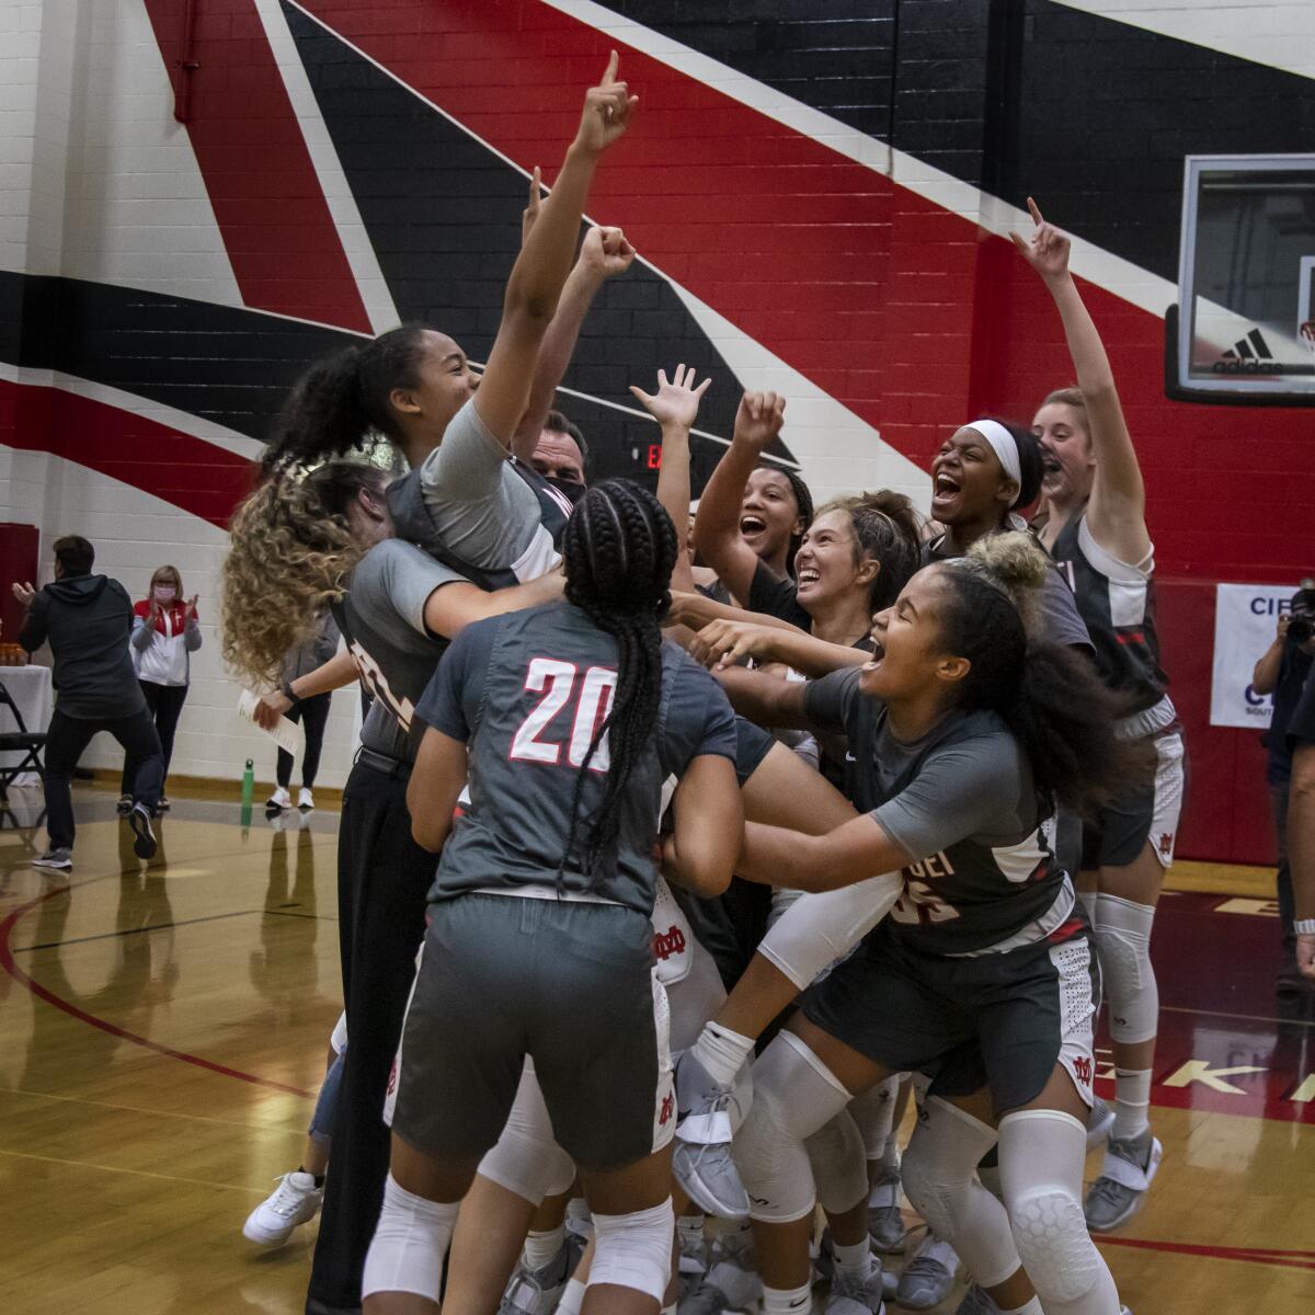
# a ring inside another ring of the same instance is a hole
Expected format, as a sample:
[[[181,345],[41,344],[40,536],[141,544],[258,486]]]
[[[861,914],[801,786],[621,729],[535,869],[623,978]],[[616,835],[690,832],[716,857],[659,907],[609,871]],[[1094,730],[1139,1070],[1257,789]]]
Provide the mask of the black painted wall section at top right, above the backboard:
[[[1315,83],[1052,0],[606,0],[1166,279],[1185,155],[1310,151]]]

